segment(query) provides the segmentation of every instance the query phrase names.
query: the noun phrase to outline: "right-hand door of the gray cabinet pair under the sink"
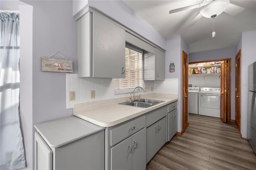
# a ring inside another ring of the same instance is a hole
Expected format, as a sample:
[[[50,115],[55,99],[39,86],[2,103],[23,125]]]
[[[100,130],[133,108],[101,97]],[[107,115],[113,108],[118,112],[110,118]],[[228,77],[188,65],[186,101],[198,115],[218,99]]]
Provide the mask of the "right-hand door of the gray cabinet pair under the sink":
[[[166,142],[166,117],[157,121],[158,134],[157,134],[157,150],[159,150]]]

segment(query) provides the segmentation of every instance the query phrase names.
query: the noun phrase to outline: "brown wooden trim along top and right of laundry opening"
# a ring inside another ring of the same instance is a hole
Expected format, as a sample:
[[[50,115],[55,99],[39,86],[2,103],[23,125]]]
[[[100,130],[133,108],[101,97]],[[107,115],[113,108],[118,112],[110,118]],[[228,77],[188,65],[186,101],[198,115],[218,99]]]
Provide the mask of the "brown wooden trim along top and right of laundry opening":
[[[229,67],[229,70],[230,70],[230,73],[231,73],[231,58],[225,58],[225,59],[214,59],[214,60],[206,60],[206,61],[195,61],[195,62],[190,62],[189,64],[195,64],[195,63],[206,63],[206,62],[212,62],[212,61],[225,61],[225,60],[228,60],[228,62],[229,62],[229,65],[228,65],[228,67]],[[227,77],[227,81],[229,81],[228,82],[228,91],[227,91],[227,93],[229,94],[228,95],[228,103],[227,103],[227,105],[228,105],[228,110],[227,110],[227,113],[228,113],[228,115],[226,115],[227,117],[228,117],[228,122],[234,122],[233,120],[231,120],[231,77],[230,77],[230,75],[228,75],[228,77]],[[221,104],[221,107],[223,107],[222,105],[222,103],[220,103]]]

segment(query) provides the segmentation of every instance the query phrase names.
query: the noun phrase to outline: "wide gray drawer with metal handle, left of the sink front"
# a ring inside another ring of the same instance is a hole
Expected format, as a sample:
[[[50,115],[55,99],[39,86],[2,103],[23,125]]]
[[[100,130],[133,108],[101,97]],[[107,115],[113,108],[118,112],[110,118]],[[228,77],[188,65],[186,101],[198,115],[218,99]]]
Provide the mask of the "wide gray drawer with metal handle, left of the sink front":
[[[124,138],[138,132],[140,129],[144,128],[146,125],[145,116],[134,119],[130,122],[127,122],[123,125],[120,125],[116,128],[110,130],[110,145],[120,142]]]

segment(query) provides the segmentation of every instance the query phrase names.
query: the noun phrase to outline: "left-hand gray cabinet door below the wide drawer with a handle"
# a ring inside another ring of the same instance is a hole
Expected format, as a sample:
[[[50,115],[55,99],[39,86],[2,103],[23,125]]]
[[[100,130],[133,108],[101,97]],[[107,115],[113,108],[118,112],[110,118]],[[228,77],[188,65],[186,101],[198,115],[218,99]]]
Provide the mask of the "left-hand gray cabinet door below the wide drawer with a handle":
[[[111,148],[111,170],[132,169],[132,136]]]

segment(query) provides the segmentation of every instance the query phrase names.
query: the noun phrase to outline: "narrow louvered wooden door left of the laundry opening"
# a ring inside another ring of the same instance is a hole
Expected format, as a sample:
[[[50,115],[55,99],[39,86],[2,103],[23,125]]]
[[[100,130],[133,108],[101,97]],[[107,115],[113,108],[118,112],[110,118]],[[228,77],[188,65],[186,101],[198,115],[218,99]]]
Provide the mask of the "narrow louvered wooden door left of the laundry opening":
[[[188,127],[188,54],[182,51],[182,132]]]

